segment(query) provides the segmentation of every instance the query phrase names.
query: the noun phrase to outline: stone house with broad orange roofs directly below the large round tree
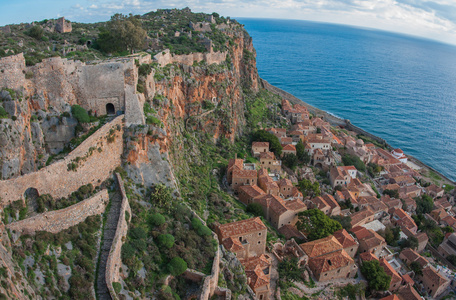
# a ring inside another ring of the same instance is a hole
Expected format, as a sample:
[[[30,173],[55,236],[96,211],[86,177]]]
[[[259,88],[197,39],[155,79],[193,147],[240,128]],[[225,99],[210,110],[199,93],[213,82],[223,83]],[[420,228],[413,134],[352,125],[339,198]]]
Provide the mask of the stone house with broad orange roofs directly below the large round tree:
[[[334,236],[301,244],[308,266],[318,281],[353,278],[358,271],[350,255]]]

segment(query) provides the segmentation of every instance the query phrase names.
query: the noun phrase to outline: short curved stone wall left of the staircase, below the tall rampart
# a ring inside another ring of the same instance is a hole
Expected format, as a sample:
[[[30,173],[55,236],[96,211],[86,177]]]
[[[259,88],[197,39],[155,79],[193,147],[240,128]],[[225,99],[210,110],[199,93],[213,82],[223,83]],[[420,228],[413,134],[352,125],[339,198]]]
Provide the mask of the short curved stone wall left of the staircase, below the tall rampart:
[[[58,233],[83,222],[87,217],[103,213],[108,202],[108,190],[102,190],[75,205],[11,223],[7,228],[19,234],[34,234],[36,231]]]

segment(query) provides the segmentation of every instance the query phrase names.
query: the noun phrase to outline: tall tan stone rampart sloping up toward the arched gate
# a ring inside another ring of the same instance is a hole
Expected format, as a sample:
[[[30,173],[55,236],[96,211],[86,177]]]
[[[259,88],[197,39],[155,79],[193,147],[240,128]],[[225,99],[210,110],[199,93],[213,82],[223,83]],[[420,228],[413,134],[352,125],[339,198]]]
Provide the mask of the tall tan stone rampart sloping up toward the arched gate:
[[[65,159],[37,172],[0,181],[1,204],[24,199],[29,189],[54,198],[67,197],[86,184],[98,185],[120,165],[123,152],[123,116],[105,124]]]

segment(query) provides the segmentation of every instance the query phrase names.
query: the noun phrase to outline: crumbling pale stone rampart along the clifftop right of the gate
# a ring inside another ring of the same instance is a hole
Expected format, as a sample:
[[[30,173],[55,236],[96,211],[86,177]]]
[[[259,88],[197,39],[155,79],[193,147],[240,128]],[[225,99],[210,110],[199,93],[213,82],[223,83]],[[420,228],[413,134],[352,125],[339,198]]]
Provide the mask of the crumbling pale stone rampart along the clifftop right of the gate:
[[[208,65],[220,64],[226,60],[227,52],[207,52],[207,53],[191,53],[183,55],[173,55],[168,49],[154,56],[155,60],[164,67],[167,64],[179,63],[191,66],[193,63],[206,61]]]

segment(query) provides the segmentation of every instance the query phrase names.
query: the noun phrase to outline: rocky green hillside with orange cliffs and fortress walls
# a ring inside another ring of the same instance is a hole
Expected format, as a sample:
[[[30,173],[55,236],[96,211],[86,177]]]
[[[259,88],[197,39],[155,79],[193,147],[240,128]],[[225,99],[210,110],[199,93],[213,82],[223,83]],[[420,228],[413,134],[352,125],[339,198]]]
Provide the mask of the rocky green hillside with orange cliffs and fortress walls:
[[[103,23],[0,31],[5,296],[186,299],[223,257],[199,219],[252,216],[223,185],[228,159],[249,155],[256,128],[284,123],[280,99],[260,87],[252,39],[234,20],[188,9],[135,19],[147,36],[131,55],[101,50]],[[91,200],[106,192],[106,207]],[[54,211],[75,221],[51,230]],[[203,279],[180,275],[177,258]],[[242,268],[223,259],[219,286],[248,297]]]

